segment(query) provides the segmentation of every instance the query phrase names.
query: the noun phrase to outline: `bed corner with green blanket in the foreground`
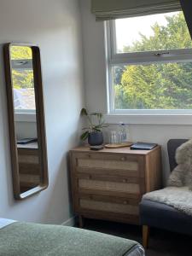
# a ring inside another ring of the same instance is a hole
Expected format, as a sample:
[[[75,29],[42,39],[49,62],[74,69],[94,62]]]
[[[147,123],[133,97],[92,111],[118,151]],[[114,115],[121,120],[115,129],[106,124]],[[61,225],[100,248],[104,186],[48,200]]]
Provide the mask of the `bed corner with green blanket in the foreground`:
[[[137,241],[90,230],[0,218],[1,256],[143,256]]]

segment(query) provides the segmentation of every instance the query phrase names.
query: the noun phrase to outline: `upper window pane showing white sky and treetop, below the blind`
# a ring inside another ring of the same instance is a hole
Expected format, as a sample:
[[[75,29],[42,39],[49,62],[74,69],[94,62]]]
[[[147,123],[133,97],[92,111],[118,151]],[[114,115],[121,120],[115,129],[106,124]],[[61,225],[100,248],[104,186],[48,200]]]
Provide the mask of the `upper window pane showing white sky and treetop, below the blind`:
[[[192,48],[183,12],[119,19],[115,28],[117,53]]]

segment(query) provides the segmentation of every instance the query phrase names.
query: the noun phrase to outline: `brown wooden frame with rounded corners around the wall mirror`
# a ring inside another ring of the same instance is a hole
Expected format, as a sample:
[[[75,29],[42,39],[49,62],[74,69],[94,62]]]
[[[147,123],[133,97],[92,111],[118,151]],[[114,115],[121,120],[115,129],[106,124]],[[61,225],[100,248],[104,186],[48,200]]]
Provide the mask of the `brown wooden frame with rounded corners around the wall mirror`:
[[[14,107],[14,95],[13,95],[13,81],[12,81],[12,75],[11,75],[11,57],[10,57],[11,46],[27,46],[32,49],[32,65],[33,65],[37,132],[38,132],[38,150],[39,150],[39,156],[40,156],[39,159],[40,159],[42,172],[40,177],[41,182],[39,183],[39,185],[24,193],[20,193],[19,161],[18,161],[18,151],[17,151],[17,143],[16,143],[16,135],[15,135],[15,107]],[[4,44],[3,46],[3,54],[4,54],[5,80],[6,80],[6,89],[7,89],[9,137],[10,137],[9,140],[10,140],[14,196],[16,200],[23,200],[26,197],[32,196],[44,189],[47,189],[49,185],[46,133],[45,133],[45,125],[44,125],[44,93],[43,93],[43,84],[42,84],[40,50],[38,46],[32,45],[32,44],[8,43],[8,44]]]

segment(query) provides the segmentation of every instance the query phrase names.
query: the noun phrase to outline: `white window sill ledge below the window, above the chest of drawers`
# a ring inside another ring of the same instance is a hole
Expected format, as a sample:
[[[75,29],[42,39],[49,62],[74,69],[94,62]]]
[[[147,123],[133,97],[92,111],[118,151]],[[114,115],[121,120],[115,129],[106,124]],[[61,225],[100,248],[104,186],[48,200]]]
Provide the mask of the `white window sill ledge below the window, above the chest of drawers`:
[[[105,115],[108,124],[124,122],[131,125],[192,125],[191,114],[114,114]]]

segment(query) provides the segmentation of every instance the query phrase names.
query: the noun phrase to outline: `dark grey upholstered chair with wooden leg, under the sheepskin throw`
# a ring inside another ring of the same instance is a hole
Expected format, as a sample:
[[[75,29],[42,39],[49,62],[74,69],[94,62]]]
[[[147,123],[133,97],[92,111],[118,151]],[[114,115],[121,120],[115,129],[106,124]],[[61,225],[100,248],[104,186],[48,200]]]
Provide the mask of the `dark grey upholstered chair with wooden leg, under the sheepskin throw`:
[[[176,149],[186,139],[171,139],[167,143],[171,172],[177,166]],[[149,227],[192,235],[192,217],[166,204],[143,199],[140,203],[140,220],[143,225],[143,247],[148,247]]]

